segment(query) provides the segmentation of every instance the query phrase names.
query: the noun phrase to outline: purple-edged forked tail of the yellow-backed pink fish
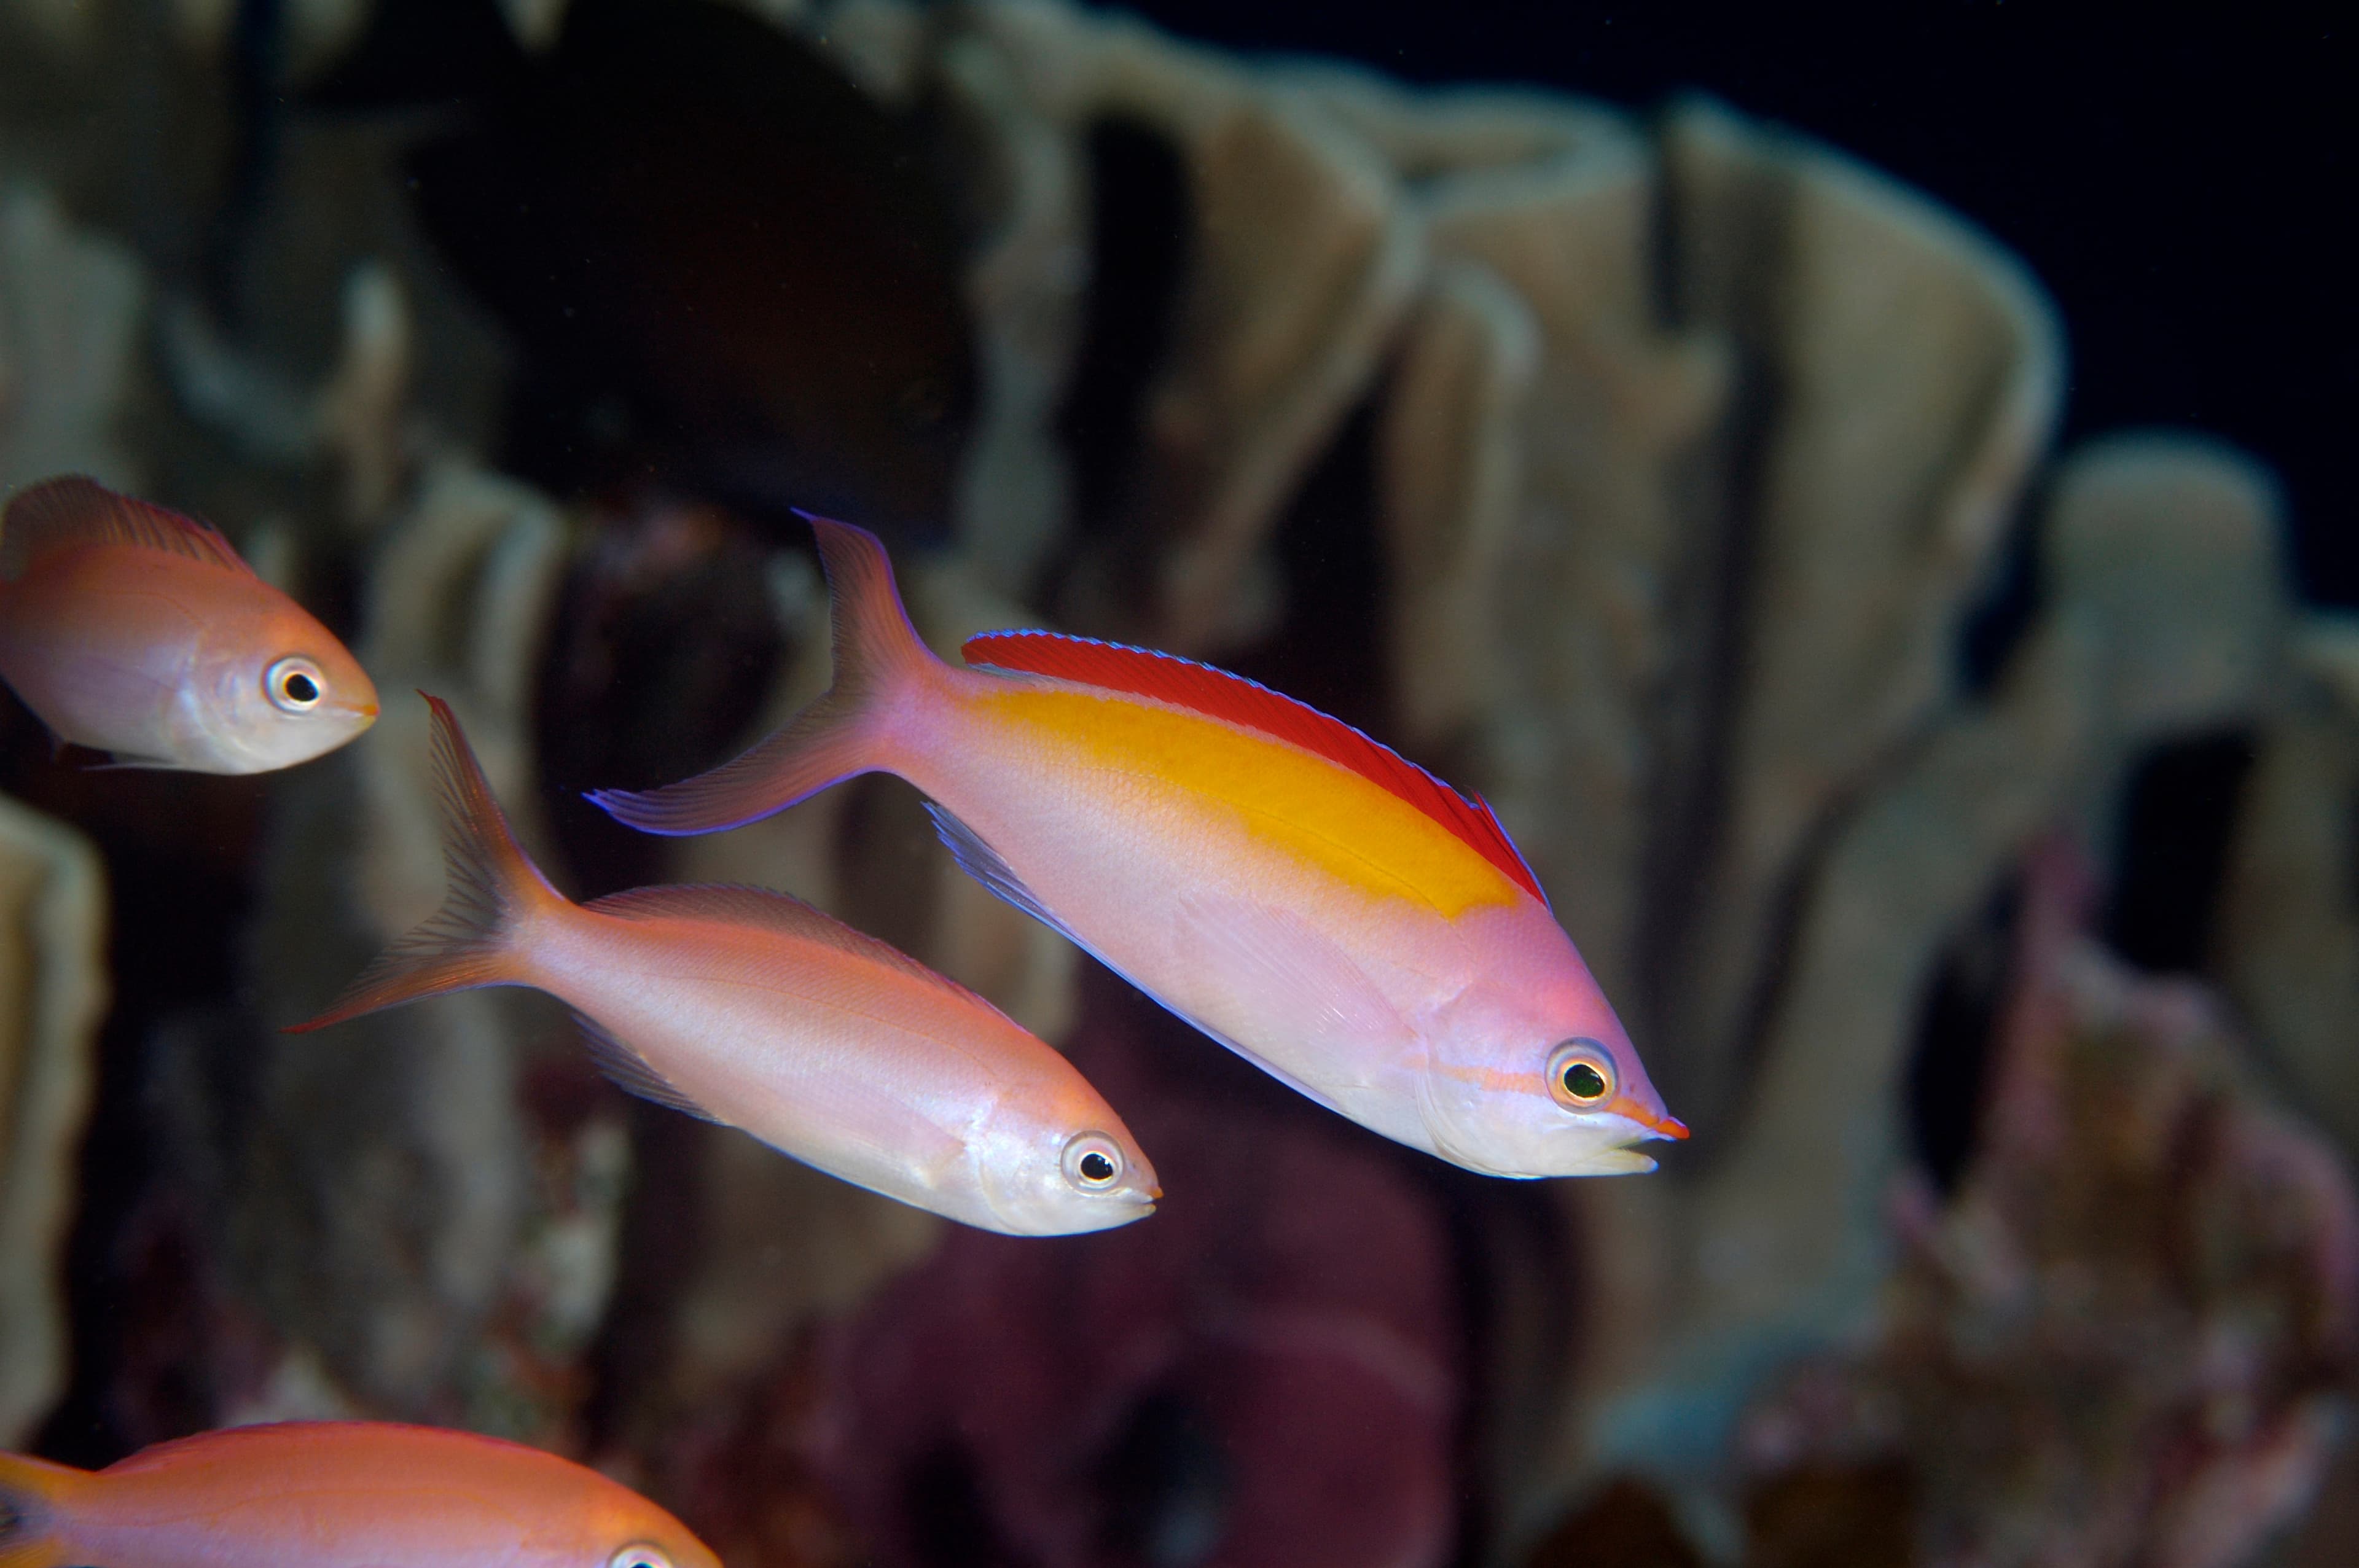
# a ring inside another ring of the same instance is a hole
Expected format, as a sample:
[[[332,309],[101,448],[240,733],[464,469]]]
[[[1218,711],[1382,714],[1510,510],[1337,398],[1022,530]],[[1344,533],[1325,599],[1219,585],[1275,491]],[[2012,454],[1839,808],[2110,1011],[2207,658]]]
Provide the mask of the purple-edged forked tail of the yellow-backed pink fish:
[[[852,523],[802,516],[819,531],[828,568],[835,684],[793,724],[710,773],[644,792],[592,790],[590,802],[618,823],[665,835],[743,828],[878,766],[878,719],[939,660],[908,625],[882,540]]]

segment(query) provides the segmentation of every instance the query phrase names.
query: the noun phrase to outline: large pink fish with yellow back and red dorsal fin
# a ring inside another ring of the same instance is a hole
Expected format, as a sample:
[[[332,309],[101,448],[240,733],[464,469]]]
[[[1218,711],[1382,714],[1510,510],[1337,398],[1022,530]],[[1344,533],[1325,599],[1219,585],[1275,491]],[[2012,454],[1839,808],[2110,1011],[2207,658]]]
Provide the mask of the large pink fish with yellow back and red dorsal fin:
[[[592,795],[649,832],[899,773],[977,879],[1323,1106],[1498,1177],[1654,1170],[1684,1139],[1479,799],[1274,691],[1163,653],[908,625],[875,535],[811,519],[835,684],[710,773]]]

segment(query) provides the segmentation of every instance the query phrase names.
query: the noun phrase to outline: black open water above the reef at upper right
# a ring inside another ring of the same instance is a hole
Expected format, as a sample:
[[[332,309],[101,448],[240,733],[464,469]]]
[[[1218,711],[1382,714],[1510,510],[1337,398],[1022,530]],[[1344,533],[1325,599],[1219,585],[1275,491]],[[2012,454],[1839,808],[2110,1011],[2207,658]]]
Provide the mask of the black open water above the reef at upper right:
[[[2071,347],[2064,439],[2213,431],[2286,479],[2312,599],[2359,606],[2359,57],[2331,7],[1901,0],[1118,9],[1231,50],[1632,108],[1701,87],[1927,191],[2012,248]]]

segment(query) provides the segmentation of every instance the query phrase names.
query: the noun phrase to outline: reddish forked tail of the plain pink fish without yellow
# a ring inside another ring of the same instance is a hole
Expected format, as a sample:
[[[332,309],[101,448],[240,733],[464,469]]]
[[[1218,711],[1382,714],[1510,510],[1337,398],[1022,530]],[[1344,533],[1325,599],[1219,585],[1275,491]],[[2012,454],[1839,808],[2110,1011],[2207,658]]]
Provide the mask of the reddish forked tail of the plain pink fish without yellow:
[[[521,920],[566,908],[564,894],[547,884],[500,816],[500,802],[491,797],[451,705],[422,691],[418,696],[434,710],[434,797],[448,894],[432,920],[387,948],[328,1012],[290,1023],[290,1035],[446,990],[514,986],[521,979]]]

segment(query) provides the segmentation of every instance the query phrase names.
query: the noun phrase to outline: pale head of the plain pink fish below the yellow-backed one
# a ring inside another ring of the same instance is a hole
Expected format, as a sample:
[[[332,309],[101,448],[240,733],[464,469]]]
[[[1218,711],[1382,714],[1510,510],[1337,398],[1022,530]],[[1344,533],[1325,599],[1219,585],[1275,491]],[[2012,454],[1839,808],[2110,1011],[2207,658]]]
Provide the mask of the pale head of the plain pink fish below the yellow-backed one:
[[[995,1228],[1012,1236],[1111,1231],[1154,1214],[1163,1195],[1146,1151],[1080,1073],[1000,1101],[974,1155]]]

